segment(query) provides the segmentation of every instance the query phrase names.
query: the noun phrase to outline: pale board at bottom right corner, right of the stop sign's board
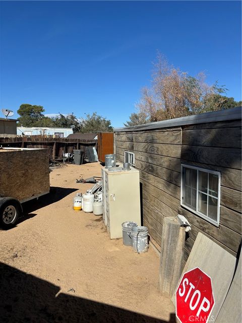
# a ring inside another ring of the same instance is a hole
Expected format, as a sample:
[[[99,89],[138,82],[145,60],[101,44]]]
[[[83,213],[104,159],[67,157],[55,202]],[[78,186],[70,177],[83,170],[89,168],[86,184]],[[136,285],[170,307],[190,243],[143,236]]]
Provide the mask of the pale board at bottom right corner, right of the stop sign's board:
[[[241,251],[236,272],[215,323],[240,323],[241,315]]]

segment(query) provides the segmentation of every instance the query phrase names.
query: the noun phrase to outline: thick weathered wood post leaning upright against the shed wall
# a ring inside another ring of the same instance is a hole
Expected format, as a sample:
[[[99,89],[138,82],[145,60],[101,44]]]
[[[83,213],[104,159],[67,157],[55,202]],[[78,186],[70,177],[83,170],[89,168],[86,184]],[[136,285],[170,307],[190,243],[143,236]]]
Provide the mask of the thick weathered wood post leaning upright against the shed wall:
[[[163,296],[169,298],[172,297],[183,270],[185,236],[185,227],[180,227],[176,218],[163,219],[159,289]]]

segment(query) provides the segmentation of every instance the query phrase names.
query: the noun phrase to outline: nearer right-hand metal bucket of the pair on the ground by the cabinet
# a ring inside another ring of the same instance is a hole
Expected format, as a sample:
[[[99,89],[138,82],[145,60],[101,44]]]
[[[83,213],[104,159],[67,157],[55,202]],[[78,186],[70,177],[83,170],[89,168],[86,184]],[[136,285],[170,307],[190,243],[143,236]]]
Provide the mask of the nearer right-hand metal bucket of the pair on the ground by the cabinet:
[[[148,241],[148,228],[147,227],[134,227],[131,229],[131,237],[133,243],[133,250],[142,253],[149,249]]]

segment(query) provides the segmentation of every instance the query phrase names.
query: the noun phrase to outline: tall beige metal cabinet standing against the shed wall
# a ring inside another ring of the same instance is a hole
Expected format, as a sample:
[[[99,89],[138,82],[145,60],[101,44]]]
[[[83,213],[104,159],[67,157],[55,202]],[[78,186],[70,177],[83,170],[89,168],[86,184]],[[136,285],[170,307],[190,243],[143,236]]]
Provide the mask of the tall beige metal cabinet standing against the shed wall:
[[[122,238],[122,223],[134,221],[141,225],[139,171],[108,171],[102,169],[103,222],[110,239]]]

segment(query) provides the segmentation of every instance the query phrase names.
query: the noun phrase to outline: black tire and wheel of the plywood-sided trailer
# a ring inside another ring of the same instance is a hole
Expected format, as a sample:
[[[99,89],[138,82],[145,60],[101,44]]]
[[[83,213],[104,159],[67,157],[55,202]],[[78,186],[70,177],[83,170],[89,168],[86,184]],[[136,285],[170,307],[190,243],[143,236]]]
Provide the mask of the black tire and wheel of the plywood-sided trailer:
[[[3,229],[13,228],[21,214],[22,208],[18,200],[3,198],[0,200],[0,226]]]

